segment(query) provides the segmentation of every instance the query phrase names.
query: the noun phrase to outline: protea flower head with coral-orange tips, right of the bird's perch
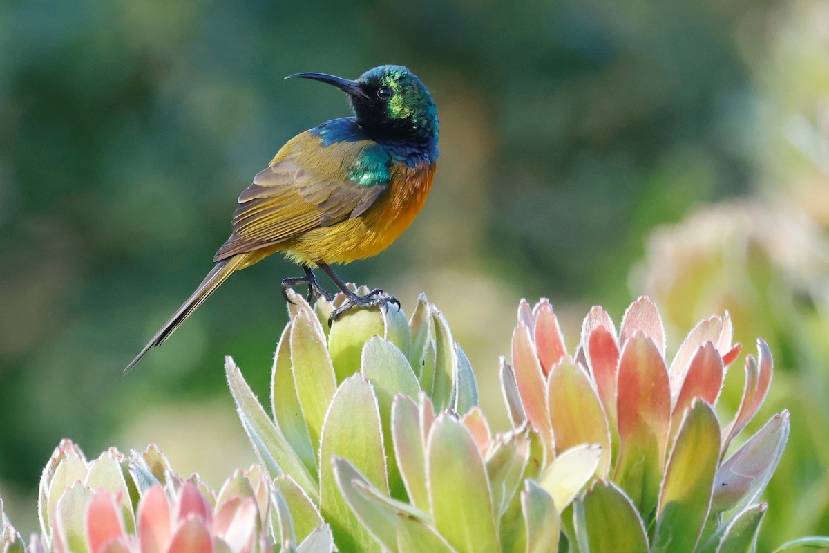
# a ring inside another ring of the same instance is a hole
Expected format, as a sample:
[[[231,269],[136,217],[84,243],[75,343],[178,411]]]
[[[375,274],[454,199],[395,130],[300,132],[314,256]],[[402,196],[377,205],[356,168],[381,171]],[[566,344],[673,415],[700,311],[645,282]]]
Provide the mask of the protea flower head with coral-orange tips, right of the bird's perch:
[[[739,410],[720,424],[714,408],[740,351],[731,340],[728,313],[706,319],[668,365],[657,308],[639,298],[618,334],[608,314],[594,308],[571,358],[550,304],[542,300],[531,310],[521,303],[512,363],[502,360],[513,424],[528,421],[547,458],[574,444],[602,448],[598,480],[576,499],[572,524],[562,521],[571,544],[671,553],[754,546],[766,510],[756,501],[783,454],[788,411],[726,457],[772,378],[771,353],[759,340],[757,359],[745,361]]]

